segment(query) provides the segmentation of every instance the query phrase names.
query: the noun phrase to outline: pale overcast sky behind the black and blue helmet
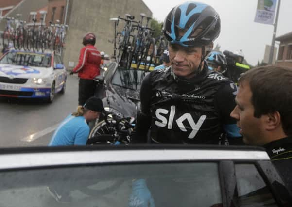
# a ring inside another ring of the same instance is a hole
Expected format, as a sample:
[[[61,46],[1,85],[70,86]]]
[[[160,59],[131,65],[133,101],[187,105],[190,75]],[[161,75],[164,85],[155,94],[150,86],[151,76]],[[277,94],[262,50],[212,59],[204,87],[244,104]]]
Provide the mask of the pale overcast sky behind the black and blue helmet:
[[[172,7],[185,0],[143,0],[153,17],[163,21]],[[220,15],[221,33],[215,44],[221,50],[242,49],[249,64],[264,57],[265,45],[271,45],[274,27],[254,22],[258,0],[200,0],[211,5]],[[292,32],[292,0],[281,0],[276,36]],[[278,47],[275,44],[275,47]]]

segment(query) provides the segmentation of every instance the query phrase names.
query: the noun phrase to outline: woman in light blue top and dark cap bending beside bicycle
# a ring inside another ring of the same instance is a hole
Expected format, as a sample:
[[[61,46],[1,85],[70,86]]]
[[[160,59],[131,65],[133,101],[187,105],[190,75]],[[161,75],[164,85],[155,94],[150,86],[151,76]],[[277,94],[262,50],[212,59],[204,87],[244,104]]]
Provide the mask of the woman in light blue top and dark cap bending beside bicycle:
[[[90,97],[77,112],[70,114],[54,132],[49,146],[86,145],[89,135],[88,122],[95,120],[103,111],[100,98]]]

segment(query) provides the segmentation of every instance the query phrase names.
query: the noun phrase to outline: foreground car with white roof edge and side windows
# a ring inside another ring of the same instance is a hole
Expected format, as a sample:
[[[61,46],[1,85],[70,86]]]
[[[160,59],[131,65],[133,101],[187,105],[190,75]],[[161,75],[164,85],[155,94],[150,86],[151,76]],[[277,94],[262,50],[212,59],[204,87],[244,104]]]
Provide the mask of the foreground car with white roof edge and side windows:
[[[0,177],[1,206],[63,206],[52,191],[71,207],[278,207],[288,199],[272,185],[282,181],[264,151],[209,146],[6,149]]]

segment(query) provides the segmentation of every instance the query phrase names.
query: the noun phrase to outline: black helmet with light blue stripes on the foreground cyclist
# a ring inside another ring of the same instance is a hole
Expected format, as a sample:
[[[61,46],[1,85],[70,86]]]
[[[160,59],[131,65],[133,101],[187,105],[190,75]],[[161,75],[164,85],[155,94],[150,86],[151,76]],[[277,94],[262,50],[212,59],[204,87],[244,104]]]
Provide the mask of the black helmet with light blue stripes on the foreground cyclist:
[[[184,34],[179,35],[179,31]],[[166,39],[184,47],[203,46],[213,42],[220,33],[220,18],[209,5],[186,2],[174,7],[163,24]]]

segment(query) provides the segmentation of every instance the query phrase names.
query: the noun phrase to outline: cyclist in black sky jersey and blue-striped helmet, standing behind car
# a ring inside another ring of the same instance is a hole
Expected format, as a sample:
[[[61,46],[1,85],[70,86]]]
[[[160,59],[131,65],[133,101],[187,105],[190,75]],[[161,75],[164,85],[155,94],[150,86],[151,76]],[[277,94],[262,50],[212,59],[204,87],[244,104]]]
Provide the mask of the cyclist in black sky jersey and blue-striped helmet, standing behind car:
[[[220,33],[217,12],[202,3],[180,4],[165,18],[163,32],[172,66],[143,79],[132,143],[146,143],[150,128],[152,143],[218,144],[223,129],[231,144],[241,143],[229,116],[236,85],[204,61]]]

